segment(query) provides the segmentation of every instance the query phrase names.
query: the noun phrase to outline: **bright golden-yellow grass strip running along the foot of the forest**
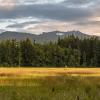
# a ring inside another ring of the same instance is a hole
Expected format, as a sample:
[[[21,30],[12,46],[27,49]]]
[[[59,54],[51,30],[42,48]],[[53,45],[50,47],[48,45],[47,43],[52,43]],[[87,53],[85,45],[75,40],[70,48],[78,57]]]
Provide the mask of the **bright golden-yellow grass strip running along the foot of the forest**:
[[[0,68],[0,78],[56,75],[100,76],[99,68]]]

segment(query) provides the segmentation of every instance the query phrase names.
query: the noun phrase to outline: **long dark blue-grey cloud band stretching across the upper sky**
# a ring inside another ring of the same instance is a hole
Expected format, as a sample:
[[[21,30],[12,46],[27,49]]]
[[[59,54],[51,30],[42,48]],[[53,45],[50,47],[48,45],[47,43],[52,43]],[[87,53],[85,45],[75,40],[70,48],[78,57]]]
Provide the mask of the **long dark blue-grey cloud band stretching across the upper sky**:
[[[19,6],[11,11],[0,10],[1,19],[24,16],[62,21],[75,21],[92,16],[92,11],[86,8],[69,8],[60,4],[36,4],[30,6]]]

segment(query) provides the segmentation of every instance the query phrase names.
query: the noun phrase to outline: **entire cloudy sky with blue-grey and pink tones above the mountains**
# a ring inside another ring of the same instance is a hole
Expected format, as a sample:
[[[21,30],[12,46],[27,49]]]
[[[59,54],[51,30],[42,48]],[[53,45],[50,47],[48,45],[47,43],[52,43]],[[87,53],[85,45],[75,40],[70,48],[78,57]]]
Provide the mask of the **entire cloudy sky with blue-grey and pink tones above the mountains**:
[[[100,35],[100,0],[0,0],[0,31]]]

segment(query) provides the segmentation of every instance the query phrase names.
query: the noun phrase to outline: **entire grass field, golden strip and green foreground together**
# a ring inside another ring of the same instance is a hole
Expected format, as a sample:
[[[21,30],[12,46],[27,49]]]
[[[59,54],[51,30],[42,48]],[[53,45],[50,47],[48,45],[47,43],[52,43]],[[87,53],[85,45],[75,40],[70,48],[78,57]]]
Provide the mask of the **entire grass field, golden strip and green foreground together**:
[[[0,68],[0,100],[100,100],[100,69]]]

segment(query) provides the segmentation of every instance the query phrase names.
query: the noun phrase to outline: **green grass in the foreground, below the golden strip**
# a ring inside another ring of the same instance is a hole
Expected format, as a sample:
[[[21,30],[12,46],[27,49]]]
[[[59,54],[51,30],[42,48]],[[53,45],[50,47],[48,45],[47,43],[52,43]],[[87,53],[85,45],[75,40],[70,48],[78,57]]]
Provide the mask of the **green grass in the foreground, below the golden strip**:
[[[0,100],[100,100],[99,77],[1,78]]]

